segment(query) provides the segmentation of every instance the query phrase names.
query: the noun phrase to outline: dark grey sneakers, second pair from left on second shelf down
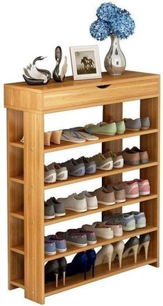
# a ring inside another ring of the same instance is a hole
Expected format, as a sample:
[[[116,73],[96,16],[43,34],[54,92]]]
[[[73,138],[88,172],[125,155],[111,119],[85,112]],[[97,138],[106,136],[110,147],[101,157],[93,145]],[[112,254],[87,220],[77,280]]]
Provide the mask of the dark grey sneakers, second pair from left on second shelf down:
[[[78,164],[76,160],[71,159],[67,162],[62,162],[60,167],[67,167],[69,176],[84,176],[85,175],[85,164],[81,162]]]

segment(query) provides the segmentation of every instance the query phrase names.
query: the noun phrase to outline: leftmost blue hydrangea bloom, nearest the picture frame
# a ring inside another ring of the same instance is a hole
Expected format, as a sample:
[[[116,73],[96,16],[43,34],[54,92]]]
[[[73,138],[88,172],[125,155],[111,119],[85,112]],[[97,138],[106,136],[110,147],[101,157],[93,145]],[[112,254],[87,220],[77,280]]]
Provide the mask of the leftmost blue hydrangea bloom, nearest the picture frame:
[[[101,20],[96,20],[93,22],[89,28],[92,37],[96,40],[105,40],[108,36],[110,36],[109,26],[106,22],[102,22]]]

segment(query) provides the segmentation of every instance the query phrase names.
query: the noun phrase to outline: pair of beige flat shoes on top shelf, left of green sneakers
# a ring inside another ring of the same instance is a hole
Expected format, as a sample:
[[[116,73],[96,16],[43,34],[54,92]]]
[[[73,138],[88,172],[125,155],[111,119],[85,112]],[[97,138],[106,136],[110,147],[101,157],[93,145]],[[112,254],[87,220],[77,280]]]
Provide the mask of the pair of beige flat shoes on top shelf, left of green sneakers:
[[[65,142],[75,142],[77,144],[80,144],[82,142],[85,142],[86,140],[97,140],[98,137],[94,135],[89,135],[88,133],[82,132],[80,130],[63,130],[61,135],[61,140],[64,140]]]

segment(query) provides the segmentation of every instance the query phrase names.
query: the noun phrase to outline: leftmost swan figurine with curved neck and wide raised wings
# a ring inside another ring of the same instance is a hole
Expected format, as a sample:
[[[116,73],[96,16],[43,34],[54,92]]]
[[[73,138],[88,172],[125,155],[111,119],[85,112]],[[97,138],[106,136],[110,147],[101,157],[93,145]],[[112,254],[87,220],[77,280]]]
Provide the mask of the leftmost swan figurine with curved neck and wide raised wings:
[[[24,68],[24,80],[29,85],[44,85],[51,80],[51,72],[45,69],[38,69],[35,66],[35,63],[37,60],[44,60],[45,57],[39,56],[38,58],[35,58],[33,60],[33,65],[29,65],[26,68]]]

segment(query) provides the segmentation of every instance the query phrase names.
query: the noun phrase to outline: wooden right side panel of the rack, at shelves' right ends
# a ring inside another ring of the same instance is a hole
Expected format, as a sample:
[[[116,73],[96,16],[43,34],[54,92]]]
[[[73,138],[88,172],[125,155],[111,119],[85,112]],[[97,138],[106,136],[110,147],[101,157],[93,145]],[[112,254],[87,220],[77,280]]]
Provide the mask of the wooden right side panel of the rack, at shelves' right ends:
[[[159,92],[160,94],[160,92]],[[141,169],[140,177],[148,178],[152,192],[157,194],[157,199],[153,200],[154,205],[140,204],[141,211],[144,211],[148,223],[153,223],[158,227],[157,232],[151,235],[150,253],[155,255],[157,262],[154,266],[159,266],[159,245],[160,245],[160,98],[141,100],[141,117],[148,116],[151,120],[151,126],[158,128],[158,133],[145,135],[140,137],[140,147],[142,150],[148,151],[150,157],[158,162],[158,166],[151,169]]]

